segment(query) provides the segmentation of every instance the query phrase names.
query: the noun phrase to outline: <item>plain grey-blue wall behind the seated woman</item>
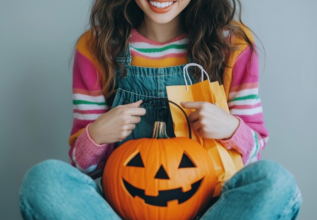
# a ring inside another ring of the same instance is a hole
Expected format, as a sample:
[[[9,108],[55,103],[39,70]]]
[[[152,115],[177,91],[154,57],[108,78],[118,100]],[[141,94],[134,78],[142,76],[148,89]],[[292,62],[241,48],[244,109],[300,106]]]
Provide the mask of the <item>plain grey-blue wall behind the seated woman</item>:
[[[266,50],[260,97],[270,132],[262,158],[294,173],[315,216],[317,43],[314,0],[242,1],[245,24]],[[20,219],[24,173],[49,158],[68,159],[72,126],[71,70],[75,40],[91,1],[0,0],[0,218]],[[258,42],[258,46],[260,44]]]

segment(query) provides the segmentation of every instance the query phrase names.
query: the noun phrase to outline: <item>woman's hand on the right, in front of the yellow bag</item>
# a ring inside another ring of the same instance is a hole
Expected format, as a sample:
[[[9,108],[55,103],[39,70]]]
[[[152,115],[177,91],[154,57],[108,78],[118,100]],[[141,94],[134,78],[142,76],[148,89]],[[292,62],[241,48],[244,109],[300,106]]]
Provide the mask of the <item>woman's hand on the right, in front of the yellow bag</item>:
[[[183,108],[196,109],[188,115],[192,129],[197,130],[202,138],[230,139],[240,120],[209,102],[181,102]]]

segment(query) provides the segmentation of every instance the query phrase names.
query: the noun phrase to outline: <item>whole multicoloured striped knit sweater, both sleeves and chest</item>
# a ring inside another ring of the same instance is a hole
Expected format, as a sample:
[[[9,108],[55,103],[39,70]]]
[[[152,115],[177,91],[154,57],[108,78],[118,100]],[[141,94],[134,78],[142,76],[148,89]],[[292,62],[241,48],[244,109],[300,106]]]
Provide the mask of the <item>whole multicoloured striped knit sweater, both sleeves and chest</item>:
[[[69,138],[71,163],[91,176],[102,172],[113,151],[113,144],[96,144],[89,135],[88,126],[107,105],[97,78],[98,63],[86,48],[88,32],[78,41],[73,65],[73,125]],[[135,29],[130,37],[132,65],[165,67],[188,62],[186,34],[161,43],[145,38]],[[232,115],[240,120],[230,139],[219,141],[227,149],[235,149],[245,165],[257,161],[266,146],[268,131],[264,125],[263,110],[258,93],[258,57],[246,47],[234,62],[228,92],[228,106]]]

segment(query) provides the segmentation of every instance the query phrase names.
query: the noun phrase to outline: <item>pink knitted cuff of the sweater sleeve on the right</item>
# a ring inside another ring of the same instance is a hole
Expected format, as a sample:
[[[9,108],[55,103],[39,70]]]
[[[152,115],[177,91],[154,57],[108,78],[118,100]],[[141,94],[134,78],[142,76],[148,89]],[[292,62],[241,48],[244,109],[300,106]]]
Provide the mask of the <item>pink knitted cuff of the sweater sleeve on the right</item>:
[[[242,118],[235,116],[240,120],[240,124],[235,130],[234,134],[229,139],[216,139],[227,150],[234,149],[242,155],[246,155],[253,146],[253,136],[251,128],[243,121]]]

